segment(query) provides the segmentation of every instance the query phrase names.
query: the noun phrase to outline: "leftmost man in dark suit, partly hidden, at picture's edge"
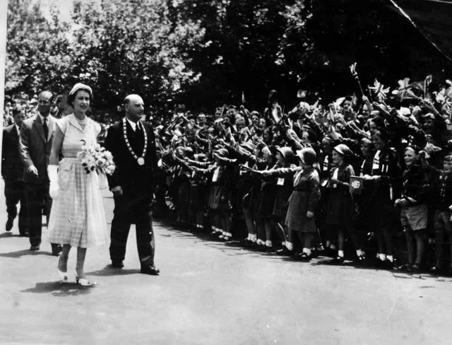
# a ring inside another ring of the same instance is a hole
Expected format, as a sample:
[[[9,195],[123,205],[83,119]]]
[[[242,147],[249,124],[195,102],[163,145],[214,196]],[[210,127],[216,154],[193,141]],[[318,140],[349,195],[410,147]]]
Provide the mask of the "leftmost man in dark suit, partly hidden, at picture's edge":
[[[13,228],[14,218],[17,216],[17,204],[20,201],[19,235],[27,236],[27,207],[23,185],[23,164],[19,156],[20,125],[25,119],[25,109],[16,106],[12,112],[14,123],[4,128],[1,145],[1,176],[5,182],[6,211],[8,213],[6,231],[11,231]]]

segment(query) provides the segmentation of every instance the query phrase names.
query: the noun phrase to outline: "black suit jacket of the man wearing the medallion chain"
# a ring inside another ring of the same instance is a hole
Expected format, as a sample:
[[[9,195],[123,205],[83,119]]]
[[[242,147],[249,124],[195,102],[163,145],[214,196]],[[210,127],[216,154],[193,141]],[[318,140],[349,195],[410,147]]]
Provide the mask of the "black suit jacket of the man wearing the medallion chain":
[[[148,135],[148,146],[145,153],[144,165],[138,165],[133,158],[123,134],[122,120],[109,127],[105,138],[105,148],[113,155],[116,170],[112,176],[108,176],[110,189],[121,186],[124,192],[134,194],[152,194],[155,191],[155,177],[157,173],[157,153],[155,151],[155,136],[153,128],[146,122],[141,122]],[[133,130],[129,122],[126,121],[127,137],[133,144]],[[143,141],[144,142],[144,141]],[[144,144],[143,144],[144,147]],[[134,150],[138,157],[141,157],[143,149]]]

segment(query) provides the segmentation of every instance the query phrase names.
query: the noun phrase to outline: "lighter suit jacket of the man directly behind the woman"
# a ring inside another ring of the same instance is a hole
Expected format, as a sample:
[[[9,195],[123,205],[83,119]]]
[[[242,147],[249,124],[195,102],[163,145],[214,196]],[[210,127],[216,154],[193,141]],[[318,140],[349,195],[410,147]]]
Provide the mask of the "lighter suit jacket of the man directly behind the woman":
[[[24,165],[25,182],[48,182],[47,165],[49,165],[50,151],[52,150],[52,141],[54,139],[54,125],[56,119],[49,115],[49,135],[44,137],[41,117],[37,115],[30,119],[25,119],[20,127],[19,153],[20,159]],[[38,177],[26,171],[30,166],[35,165]]]

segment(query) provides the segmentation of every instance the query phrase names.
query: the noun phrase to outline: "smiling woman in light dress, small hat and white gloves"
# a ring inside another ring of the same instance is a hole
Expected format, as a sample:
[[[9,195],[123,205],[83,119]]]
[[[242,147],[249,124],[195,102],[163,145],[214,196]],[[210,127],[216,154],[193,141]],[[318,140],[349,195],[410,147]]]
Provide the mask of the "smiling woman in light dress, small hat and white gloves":
[[[85,172],[77,158],[82,140],[94,145],[100,133],[100,125],[86,116],[92,97],[89,86],[77,83],[72,88],[68,103],[73,107],[73,114],[57,121],[49,161],[49,192],[54,199],[49,241],[63,246],[58,262],[61,282],[69,281],[69,251],[77,247],[76,282],[82,286],[93,285],[83,271],[86,249],[102,245],[107,239],[99,177],[95,172]]]

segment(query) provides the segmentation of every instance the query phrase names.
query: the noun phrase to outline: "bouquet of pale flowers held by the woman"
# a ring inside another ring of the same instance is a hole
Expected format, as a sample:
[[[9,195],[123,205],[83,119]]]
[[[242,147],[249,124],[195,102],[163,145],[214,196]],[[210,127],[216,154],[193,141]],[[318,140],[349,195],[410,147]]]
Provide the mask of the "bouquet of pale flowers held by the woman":
[[[113,162],[112,153],[105,150],[99,144],[90,145],[85,140],[82,142],[82,151],[77,153],[77,158],[81,160],[85,172],[97,172],[97,174],[112,175],[116,166]]]

